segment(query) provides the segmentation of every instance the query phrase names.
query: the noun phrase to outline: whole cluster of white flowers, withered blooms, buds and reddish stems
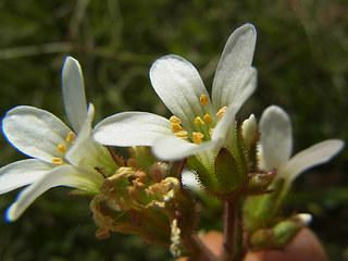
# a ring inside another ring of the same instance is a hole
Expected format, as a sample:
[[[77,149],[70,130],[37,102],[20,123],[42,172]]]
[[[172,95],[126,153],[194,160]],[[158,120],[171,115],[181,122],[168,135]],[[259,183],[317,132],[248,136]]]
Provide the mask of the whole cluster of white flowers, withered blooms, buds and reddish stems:
[[[7,220],[16,220],[46,190],[69,186],[75,188],[72,194],[91,197],[98,238],[110,232],[137,234],[166,246],[174,257],[184,250],[192,260],[217,260],[197,236],[192,188],[224,202],[219,260],[282,248],[310,220],[308,214],[279,215],[291,183],[330,161],[344,142],[325,140],[290,158],[291,124],[283,109],[269,107],[259,123],[253,114],[236,121],[257,88],[251,65],[256,38],[251,24],[229,36],[211,96],[184,58],[158,59],[150,80],[173,115],[122,112],[95,128],[95,108],[87,108],[80,66],[66,58],[62,86],[72,129],[51,113],[27,105],[10,110],[2,120],[8,140],[34,158],[0,169],[0,194],[26,186],[8,209]],[[112,147],[127,147],[129,159],[123,160]],[[236,235],[243,240],[235,241]]]

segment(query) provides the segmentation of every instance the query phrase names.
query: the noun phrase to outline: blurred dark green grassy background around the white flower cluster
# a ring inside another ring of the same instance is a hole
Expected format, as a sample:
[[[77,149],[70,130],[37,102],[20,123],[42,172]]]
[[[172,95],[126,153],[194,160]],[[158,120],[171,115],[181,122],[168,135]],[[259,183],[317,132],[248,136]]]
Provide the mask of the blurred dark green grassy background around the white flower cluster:
[[[18,104],[51,111],[66,122],[61,67],[66,55],[84,71],[96,123],[125,110],[169,116],[151,88],[151,63],[167,53],[189,60],[211,86],[229,34],[250,22],[258,29],[259,86],[239,113],[260,117],[270,104],[287,110],[294,150],[328,138],[348,140],[348,5],[330,0],[1,0],[0,115]],[[0,165],[25,156],[0,138]],[[300,176],[285,212],[310,212],[311,227],[331,260],[348,249],[348,153]],[[1,196],[0,213],[20,190]],[[0,260],[171,260],[136,236],[94,236],[89,202],[51,189],[15,223],[0,221]],[[201,226],[220,226],[220,210]],[[214,222],[216,221],[216,222]]]

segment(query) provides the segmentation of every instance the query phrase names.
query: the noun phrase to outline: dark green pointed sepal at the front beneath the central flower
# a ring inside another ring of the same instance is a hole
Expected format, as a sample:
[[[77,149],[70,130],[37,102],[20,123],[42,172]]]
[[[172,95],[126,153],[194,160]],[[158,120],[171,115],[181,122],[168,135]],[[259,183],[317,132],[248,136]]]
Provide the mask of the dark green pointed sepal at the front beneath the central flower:
[[[229,194],[238,190],[246,179],[239,165],[228,149],[222,148],[214,161],[214,171],[219,194]]]

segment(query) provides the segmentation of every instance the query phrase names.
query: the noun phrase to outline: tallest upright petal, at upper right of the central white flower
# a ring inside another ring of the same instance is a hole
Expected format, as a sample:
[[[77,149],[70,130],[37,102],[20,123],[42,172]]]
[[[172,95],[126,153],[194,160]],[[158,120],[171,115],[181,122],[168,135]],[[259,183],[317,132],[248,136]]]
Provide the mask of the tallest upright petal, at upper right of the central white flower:
[[[257,32],[251,24],[237,28],[228,38],[213,80],[212,100],[217,109],[238,96],[245,70],[251,66]],[[239,89],[239,90],[238,90]]]

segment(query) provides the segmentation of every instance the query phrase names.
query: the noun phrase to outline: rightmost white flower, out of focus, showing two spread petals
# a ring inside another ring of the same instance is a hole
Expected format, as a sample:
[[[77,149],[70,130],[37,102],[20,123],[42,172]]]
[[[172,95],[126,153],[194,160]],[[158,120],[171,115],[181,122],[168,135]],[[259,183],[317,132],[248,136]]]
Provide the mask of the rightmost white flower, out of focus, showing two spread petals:
[[[276,176],[284,178],[286,185],[290,185],[306,170],[330,161],[344,147],[341,140],[328,139],[290,158],[293,150],[290,119],[276,105],[269,107],[262,113],[260,132],[261,167],[276,169]]]

